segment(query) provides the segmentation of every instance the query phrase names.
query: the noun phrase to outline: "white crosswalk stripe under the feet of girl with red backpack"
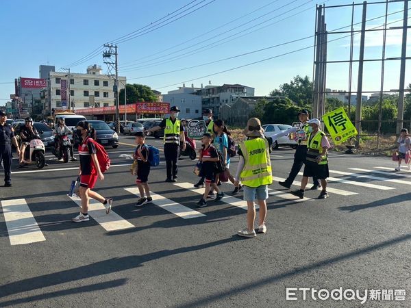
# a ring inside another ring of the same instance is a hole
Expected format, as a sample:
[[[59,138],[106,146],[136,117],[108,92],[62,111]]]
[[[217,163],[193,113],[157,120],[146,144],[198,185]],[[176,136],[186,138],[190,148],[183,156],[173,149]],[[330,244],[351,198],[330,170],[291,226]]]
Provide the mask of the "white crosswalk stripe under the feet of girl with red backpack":
[[[69,198],[77,203],[79,207],[82,207],[82,201],[80,198],[71,196],[69,196]],[[90,205],[88,206],[88,215],[97,221],[106,231],[116,231],[134,227],[134,224],[129,223],[114,211],[110,211],[110,214],[105,214],[104,205],[92,198],[90,198]]]

